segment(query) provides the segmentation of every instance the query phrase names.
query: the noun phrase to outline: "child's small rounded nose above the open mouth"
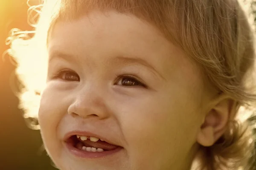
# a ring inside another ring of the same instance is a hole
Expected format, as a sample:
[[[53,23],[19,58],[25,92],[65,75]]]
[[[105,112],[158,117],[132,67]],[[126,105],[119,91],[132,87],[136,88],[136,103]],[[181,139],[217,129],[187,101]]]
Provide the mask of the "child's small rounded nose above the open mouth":
[[[73,117],[80,116],[84,119],[98,117],[98,119],[105,119],[110,114],[104,96],[102,91],[84,87],[76,92],[67,112]]]

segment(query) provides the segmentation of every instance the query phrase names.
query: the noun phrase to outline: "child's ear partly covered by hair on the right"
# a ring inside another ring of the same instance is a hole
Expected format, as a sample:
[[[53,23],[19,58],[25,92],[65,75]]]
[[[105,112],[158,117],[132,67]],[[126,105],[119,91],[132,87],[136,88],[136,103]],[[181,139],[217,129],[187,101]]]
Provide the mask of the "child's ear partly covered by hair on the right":
[[[236,102],[220,96],[212,102],[204,122],[197,134],[197,142],[205,147],[212,146],[227,129],[228,121],[234,119]]]

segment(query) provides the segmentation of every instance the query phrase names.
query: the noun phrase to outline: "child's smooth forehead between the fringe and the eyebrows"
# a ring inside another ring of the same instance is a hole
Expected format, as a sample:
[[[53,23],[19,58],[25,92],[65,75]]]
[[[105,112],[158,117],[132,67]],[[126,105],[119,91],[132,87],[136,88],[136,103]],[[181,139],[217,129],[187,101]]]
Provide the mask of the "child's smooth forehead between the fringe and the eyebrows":
[[[53,27],[48,40],[49,49],[54,46],[54,48],[64,48],[60,50],[67,50],[69,47],[79,47],[83,44],[82,50],[92,45],[97,45],[103,50],[106,45],[112,45],[112,47],[115,46],[115,51],[129,47],[130,50],[139,53],[160,52],[165,57],[169,55],[169,52],[178,52],[151,24],[133,15],[116,12],[108,14],[93,12],[78,20],[59,21]],[[72,49],[69,50],[72,51]],[[157,54],[155,55],[157,57]]]

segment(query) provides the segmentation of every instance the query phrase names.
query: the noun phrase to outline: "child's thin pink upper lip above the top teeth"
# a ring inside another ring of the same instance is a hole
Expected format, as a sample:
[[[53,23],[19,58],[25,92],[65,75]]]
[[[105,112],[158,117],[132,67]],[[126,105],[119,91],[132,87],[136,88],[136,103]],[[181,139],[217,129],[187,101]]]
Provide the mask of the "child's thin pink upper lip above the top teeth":
[[[67,132],[67,133],[64,135],[64,141],[66,142],[67,139],[69,139],[71,136],[74,136],[74,135],[78,135],[78,136],[94,136],[94,137],[96,137],[96,138],[103,139],[105,142],[108,142],[108,143],[110,143],[110,144],[119,146],[118,144],[116,144],[116,143],[113,142],[111,139],[108,139],[108,138],[105,137],[105,136],[101,136],[101,135],[96,134],[96,133],[92,133],[92,132],[89,132],[89,131],[81,131],[81,130],[73,130],[73,131]]]

